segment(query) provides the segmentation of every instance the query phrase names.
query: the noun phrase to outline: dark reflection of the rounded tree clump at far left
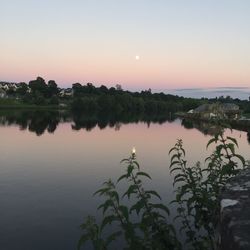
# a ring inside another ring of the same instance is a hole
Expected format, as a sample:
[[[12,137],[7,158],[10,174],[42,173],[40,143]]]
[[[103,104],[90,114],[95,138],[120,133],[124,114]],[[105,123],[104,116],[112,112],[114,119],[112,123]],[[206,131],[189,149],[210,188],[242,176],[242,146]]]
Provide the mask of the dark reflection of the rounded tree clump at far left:
[[[54,133],[60,122],[58,111],[18,111],[7,113],[1,117],[1,124],[19,125],[21,130],[28,129],[30,132],[42,135],[46,130]]]

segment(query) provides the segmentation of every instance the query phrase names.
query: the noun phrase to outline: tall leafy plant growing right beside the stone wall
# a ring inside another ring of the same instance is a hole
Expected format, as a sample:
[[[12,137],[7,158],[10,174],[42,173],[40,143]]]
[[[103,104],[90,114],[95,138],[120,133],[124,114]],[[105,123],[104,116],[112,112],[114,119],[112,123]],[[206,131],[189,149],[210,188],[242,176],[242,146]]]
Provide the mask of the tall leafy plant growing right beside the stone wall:
[[[188,166],[182,140],[170,150],[170,172],[175,175],[178,215],[181,231],[186,234],[186,243],[191,249],[216,249],[217,223],[219,221],[219,192],[228,178],[245,167],[244,158],[236,154],[237,141],[225,137],[222,132],[209,140],[207,147],[215,143],[214,152],[202,167],[200,162]]]

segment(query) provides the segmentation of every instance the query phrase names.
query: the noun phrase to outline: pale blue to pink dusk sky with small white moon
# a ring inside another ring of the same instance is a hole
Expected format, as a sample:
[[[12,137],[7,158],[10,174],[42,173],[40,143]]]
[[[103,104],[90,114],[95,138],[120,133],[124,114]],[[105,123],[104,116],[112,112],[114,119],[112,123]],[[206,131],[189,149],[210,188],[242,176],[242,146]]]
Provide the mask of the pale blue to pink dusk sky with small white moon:
[[[250,87],[249,0],[0,0],[0,81]]]

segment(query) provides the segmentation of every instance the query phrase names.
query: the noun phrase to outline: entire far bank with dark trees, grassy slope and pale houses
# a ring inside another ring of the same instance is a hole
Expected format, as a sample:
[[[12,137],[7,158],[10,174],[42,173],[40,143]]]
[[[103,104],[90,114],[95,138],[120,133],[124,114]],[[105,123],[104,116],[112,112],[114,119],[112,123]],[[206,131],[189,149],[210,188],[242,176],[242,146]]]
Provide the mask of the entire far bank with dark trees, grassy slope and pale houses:
[[[74,83],[71,88],[59,88],[54,80],[47,83],[37,77],[29,83],[0,83],[0,108],[60,108],[85,113],[146,113],[168,114],[187,112],[205,103],[234,103],[243,113],[250,113],[250,101],[232,99],[230,96],[219,98],[184,98],[167,93],[152,93],[151,89],[141,92],[123,90],[115,87],[94,86],[92,83]],[[4,93],[3,93],[4,92]]]

